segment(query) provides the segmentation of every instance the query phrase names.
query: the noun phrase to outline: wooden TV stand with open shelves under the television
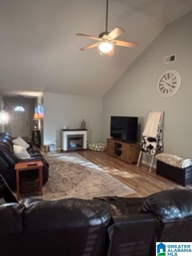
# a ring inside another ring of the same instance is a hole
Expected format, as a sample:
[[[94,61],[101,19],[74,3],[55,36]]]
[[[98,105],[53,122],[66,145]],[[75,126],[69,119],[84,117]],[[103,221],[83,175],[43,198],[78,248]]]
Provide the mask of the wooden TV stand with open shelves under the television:
[[[140,144],[107,139],[107,153],[129,164],[137,163]]]

